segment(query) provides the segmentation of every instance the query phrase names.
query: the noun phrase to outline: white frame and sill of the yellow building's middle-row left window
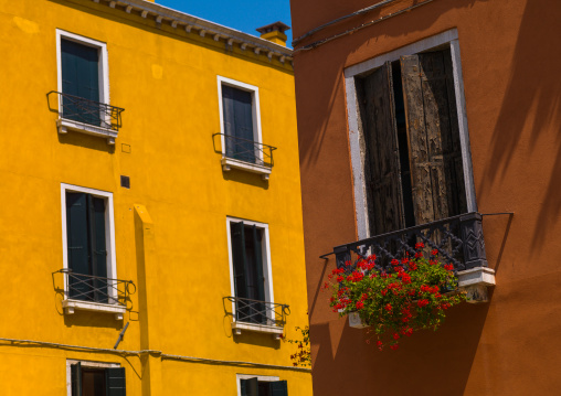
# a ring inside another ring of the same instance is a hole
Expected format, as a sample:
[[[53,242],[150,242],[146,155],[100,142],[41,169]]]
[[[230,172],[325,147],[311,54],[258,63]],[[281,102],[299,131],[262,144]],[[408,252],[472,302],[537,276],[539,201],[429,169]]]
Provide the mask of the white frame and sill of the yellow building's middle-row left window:
[[[67,228],[66,228],[66,192],[81,192],[91,194],[100,199],[104,199],[106,202],[105,205],[105,248],[107,250],[107,278],[117,279],[117,257],[115,249],[115,215],[113,210],[113,193],[102,190],[94,190],[88,188],[83,188],[80,185],[61,183],[61,220],[62,220],[62,257],[63,257],[63,268],[68,269],[68,242],[67,242]],[[117,301],[117,290],[116,285],[114,287],[109,286],[109,299]],[[66,277],[64,277],[64,296],[63,308],[65,313],[72,314],[74,313],[74,309],[86,310],[86,311],[104,311],[115,313],[115,318],[117,320],[123,319],[123,314],[126,311],[125,307],[121,307],[116,303],[100,303],[100,302],[89,302],[82,300],[72,300],[68,297],[68,285]]]

